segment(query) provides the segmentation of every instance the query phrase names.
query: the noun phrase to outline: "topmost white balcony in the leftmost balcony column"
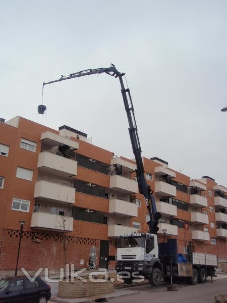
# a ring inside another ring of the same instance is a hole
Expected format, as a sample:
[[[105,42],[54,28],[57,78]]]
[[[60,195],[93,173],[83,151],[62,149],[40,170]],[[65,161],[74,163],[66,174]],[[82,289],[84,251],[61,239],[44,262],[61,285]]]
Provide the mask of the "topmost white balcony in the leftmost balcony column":
[[[58,146],[60,144],[65,144],[70,146],[71,150],[75,150],[79,148],[79,143],[75,142],[69,138],[54,134],[50,131],[45,131],[41,134],[41,140],[42,143],[45,144],[45,146],[48,146],[49,148],[52,148],[54,146]]]

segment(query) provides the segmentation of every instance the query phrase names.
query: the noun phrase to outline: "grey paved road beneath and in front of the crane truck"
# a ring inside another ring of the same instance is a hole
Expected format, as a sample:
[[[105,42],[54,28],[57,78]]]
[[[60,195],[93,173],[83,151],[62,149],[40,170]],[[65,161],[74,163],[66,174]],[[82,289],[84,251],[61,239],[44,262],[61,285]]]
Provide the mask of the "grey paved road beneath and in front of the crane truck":
[[[151,287],[150,285],[138,286],[136,290],[140,294],[112,299],[111,303],[213,303],[213,298],[219,293],[227,293],[227,279],[217,279],[213,283],[207,281],[205,284],[178,285],[178,291],[167,291],[166,286]]]

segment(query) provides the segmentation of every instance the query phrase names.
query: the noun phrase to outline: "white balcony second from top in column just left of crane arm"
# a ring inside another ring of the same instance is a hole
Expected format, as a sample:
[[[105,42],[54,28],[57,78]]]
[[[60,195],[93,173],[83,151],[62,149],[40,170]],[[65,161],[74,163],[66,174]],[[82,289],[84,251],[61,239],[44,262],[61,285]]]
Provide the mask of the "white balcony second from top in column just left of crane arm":
[[[109,187],[124,194],[137,193],[137,182],[119,175],[110,176]]]

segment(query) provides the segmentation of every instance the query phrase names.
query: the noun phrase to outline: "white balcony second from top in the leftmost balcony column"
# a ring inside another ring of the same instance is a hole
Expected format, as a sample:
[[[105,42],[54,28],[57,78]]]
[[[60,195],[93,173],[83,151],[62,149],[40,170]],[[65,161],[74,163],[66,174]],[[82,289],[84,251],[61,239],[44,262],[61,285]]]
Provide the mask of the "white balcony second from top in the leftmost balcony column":
[[[37,167],[44,173],[62,177],[75,176],[77,174],[77,161],[49,153],[48,151],[43,151],[39,154]]]

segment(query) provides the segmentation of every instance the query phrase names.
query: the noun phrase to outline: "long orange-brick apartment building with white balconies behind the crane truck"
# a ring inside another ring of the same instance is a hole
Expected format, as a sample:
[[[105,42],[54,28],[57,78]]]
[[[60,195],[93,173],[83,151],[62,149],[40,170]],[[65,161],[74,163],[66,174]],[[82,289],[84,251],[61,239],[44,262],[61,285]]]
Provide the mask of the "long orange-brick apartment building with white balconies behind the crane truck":
[[[227,260],[227,188],[189,176],[158,158],[143,158],[146,179],[162,214],[158,237],[178,238],[179,252]],[[0,122],[0,270],[14,270],[25,220],[19,268],[96,266],[116,254],[121,234],[146,232],[148,212],[138,193],[133,160],[89,142],[68,126],[59,131],[21,117]],[[36,241],[36,240],[39,241]],[[110,263],[114,267],[114,262]]]

